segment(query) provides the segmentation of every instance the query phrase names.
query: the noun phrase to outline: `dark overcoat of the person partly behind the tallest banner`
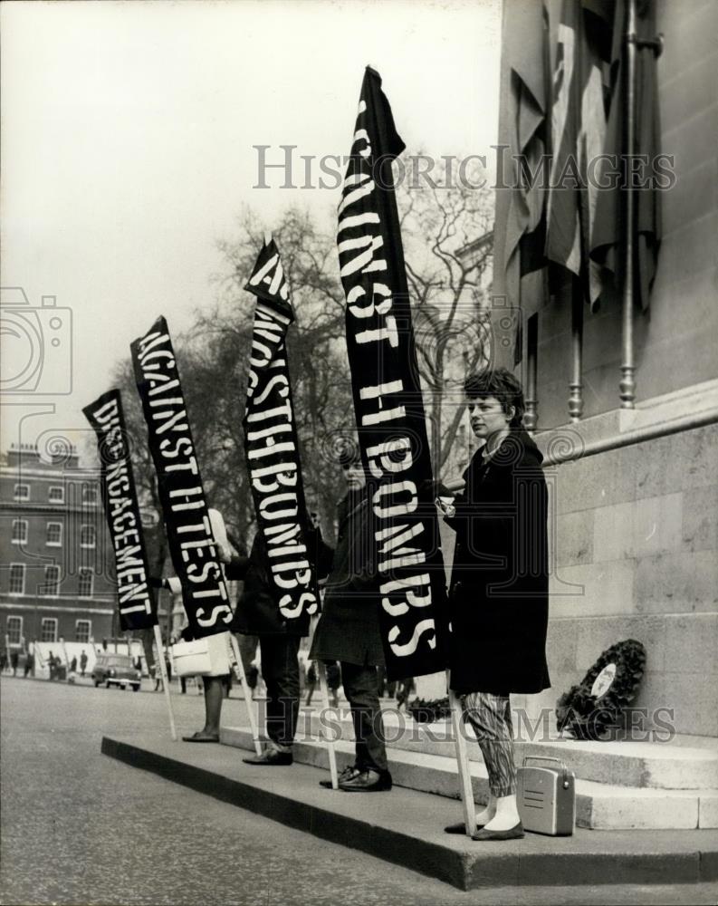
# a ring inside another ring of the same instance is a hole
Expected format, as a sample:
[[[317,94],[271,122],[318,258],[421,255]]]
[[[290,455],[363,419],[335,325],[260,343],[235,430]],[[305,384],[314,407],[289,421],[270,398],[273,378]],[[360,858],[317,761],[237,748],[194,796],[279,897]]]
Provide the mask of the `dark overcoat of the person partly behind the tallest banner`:
[[[345,496],[337,516],[337,546],[310,658],[344,660],[359,666],[382,665],[369,490],[364,488]]]

